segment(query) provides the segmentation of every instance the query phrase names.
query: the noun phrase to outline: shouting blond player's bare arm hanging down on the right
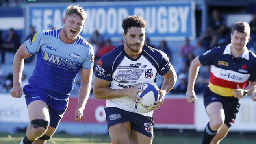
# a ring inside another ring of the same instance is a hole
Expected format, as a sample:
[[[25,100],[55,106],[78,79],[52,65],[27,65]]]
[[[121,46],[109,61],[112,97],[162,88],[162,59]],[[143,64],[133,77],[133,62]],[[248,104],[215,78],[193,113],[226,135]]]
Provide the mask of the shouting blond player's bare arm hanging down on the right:
[[[78,103],[75,110],[75,121],[83,119],[83,110],[87,103],[87,100],[91,91],[91,80],[93,76],[93,68],[83,69],[81,68],[81,85],[78,93]]]

